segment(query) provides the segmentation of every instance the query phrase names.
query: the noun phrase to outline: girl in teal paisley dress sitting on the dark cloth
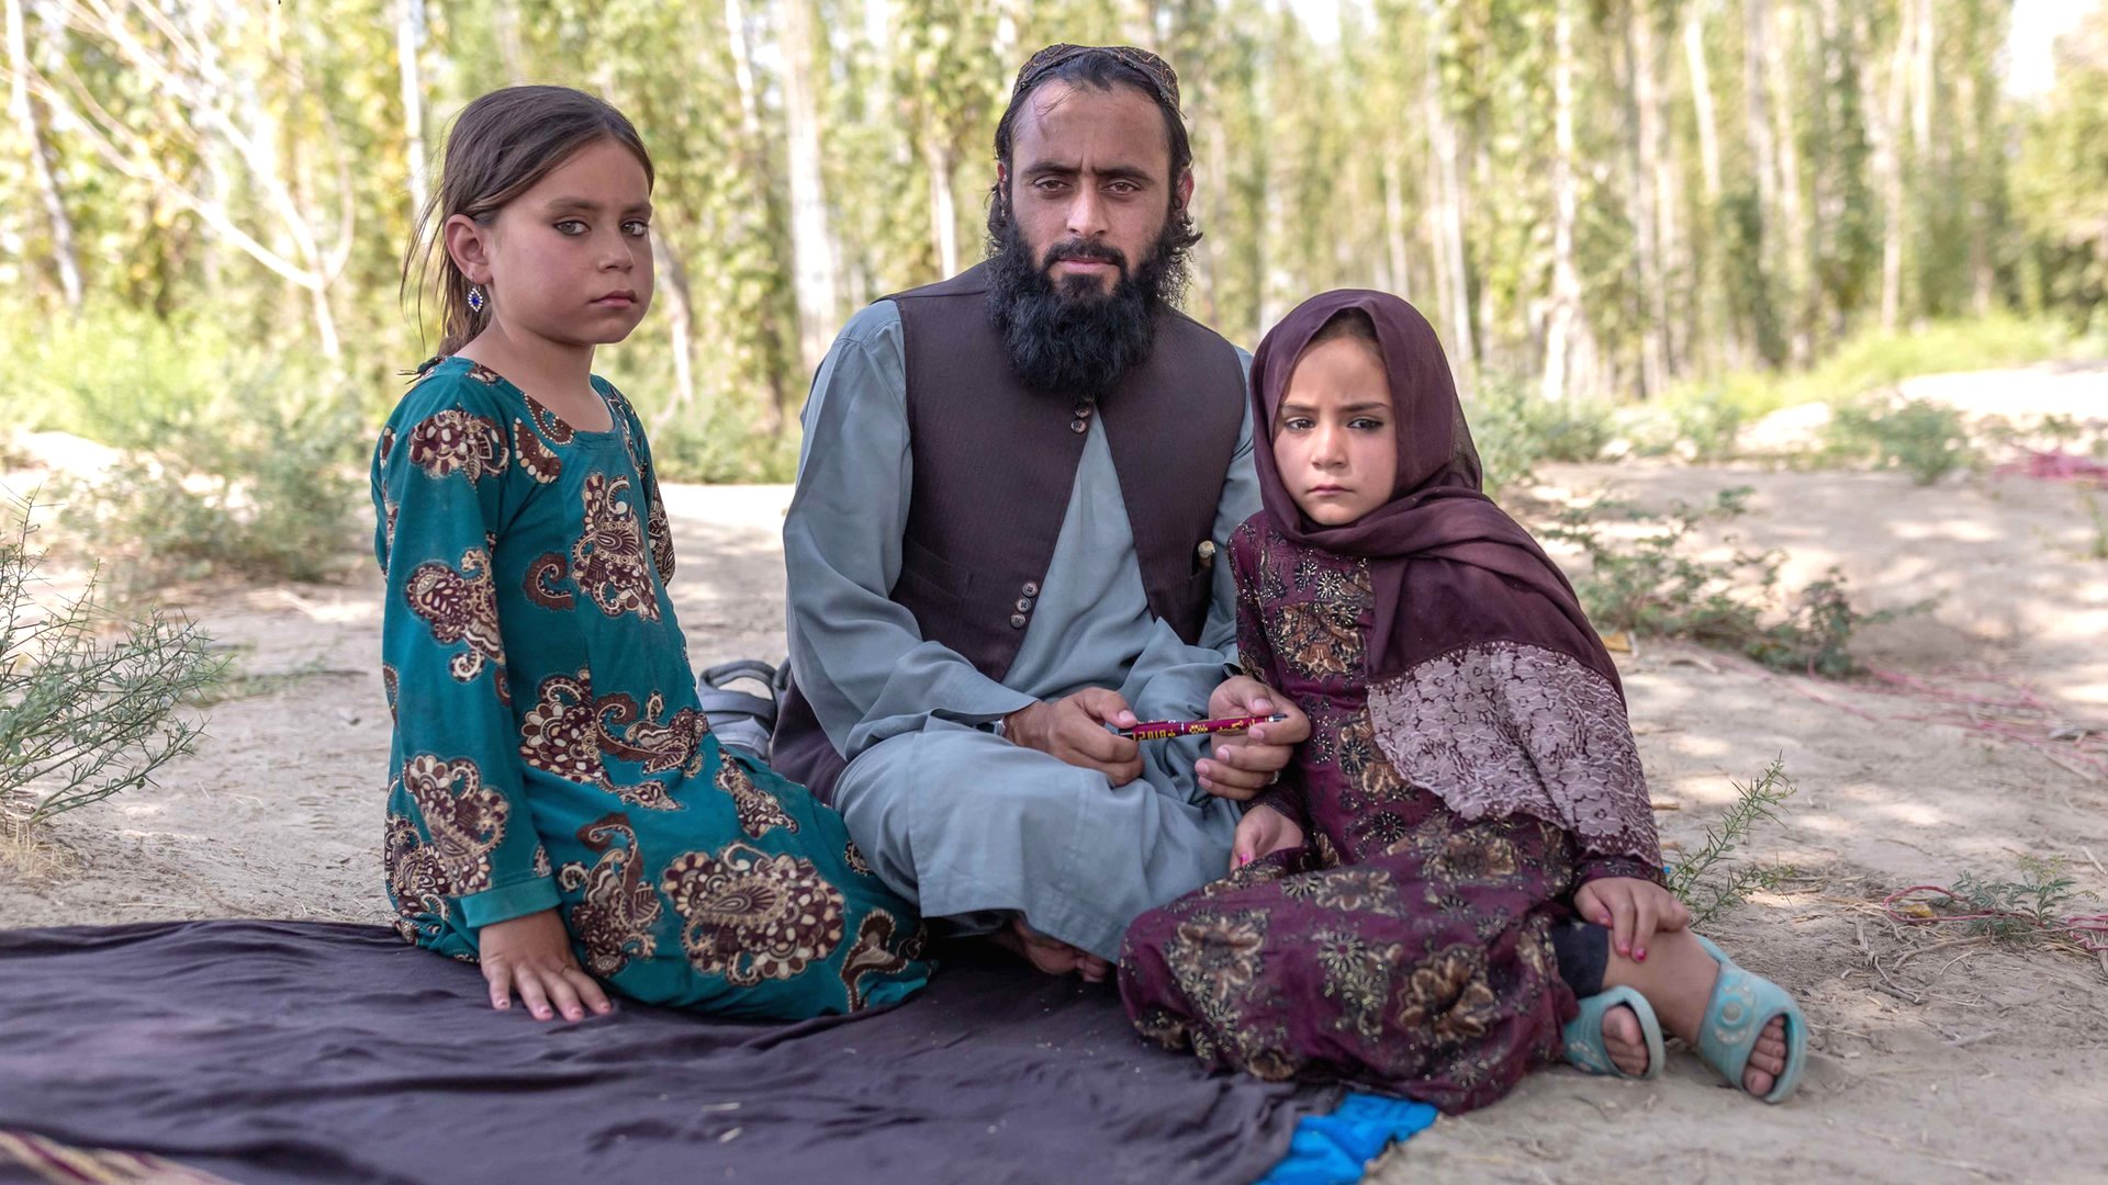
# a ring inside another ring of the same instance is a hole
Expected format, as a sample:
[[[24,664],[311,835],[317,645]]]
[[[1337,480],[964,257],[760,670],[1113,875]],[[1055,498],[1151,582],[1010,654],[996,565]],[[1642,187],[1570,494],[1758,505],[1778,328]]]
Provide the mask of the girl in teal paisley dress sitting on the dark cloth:
[[[607,1012],[603,985],[890,1004],[928,978],[921,924],[833,810],[710,736],[651,449],[590,373],[649,306],[649,196],[637,131],[578,91],[485,95],[447,141],[447,335],[373,453],[396,928],[540,1018]]]

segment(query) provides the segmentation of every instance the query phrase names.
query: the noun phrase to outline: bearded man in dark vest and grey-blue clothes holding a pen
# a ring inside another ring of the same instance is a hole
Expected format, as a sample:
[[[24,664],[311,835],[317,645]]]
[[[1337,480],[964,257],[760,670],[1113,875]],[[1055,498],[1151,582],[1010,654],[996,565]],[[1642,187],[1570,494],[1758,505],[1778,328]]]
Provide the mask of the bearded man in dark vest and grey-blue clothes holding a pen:
[[[1128,921],[1227,871],[1231,799],[1309,721],[1227,664],[1248,358],[1172,308],[1197,238],[1176,76],[1050,46],[995,156],[989,259],[858,312],[814,380],[774,765],[928,917],[1102,978]],[[1246,713],[1290,719],[1107,727]]]

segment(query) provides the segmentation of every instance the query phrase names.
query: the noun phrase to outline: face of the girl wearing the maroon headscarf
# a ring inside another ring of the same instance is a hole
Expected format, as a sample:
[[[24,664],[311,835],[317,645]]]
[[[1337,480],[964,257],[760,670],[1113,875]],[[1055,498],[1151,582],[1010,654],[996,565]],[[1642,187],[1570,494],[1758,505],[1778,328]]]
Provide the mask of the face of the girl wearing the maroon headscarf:
[[[1273,417],[1273,464],[1309,521],[1339,527],[1391,500],[1391,380],[1368,342],[1332,337],[1296,358]]]

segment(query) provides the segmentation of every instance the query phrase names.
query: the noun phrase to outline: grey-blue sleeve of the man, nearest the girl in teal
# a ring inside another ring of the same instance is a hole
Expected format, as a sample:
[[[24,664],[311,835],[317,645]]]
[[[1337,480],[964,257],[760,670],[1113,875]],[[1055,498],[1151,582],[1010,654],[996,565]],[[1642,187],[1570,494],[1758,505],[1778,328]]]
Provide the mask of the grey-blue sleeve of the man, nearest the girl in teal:
[[[1033,702],[925,641],[887,597],[900,578],[913,479],[900,333],[894,304],[873,304],[820,363],[784,519],[790,666],[820,727],[850,757],[932,715],[982,723]]]

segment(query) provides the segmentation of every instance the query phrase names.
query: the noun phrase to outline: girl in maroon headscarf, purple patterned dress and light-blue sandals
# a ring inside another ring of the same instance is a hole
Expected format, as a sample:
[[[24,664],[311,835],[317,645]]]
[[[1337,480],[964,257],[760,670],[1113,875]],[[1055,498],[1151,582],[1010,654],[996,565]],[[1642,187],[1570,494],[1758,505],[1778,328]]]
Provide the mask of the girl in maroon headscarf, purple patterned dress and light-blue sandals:
[[[1661,1073],[1661,1033],[1750,1094],[1807,1025],[1663,888],[1617,668],[1560,569],[1480,491],[1433,327],[1305,302],[1252,361],[1265,510],[1231,538],[1246,668],[1311,738],[1235,869],[1128,930],[1136,1027],[1261,1077],[1469,1111],[1533,1065]]]

